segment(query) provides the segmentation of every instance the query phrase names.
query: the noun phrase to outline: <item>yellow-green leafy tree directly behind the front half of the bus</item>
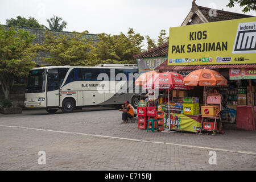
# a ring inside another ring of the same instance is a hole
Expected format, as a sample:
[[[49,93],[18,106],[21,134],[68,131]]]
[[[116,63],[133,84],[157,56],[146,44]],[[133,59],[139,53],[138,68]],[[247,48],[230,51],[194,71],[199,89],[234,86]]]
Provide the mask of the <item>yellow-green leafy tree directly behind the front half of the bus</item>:
[[[93,42],[82,38],[88,31],[72,33],[71,36],[53,36],[51,31],[46,30],[46,39],[42,45],[35,45],[36,50],[49,52],[50,56],[44,58],[44,61],[52,65],[92,65],[96,59],[96,55],[90,51],[93,49]]]

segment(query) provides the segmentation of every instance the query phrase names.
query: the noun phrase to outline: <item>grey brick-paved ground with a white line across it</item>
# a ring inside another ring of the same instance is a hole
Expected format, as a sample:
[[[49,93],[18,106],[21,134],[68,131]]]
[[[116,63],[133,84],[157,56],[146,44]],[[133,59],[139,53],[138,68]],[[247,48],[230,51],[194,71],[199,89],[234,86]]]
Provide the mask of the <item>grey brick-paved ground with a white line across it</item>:
[[[256,132],[147,133],[105,109],[0,114],[0,170],[256,170]],[[38,164],[39,151],[46,165]]]

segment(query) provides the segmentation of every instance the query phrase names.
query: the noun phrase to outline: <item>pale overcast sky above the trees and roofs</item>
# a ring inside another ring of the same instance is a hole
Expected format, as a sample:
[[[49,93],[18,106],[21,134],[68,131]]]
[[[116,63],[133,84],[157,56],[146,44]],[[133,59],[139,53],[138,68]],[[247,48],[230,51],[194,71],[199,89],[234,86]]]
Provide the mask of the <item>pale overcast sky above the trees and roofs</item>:
[[[199,6],[242,13],[239,5],[230,9],[226,7],[228,3],[229,0],[196,1]],[[183,23],[191,7],[192,0],[0,0],[0,24],[20,15],[32,16],[48,27],[46,19],[57,15],[68,23],[64,31],[115,35],[126,34],[131,27],[157,41],[160,30],[166,30],[168,35],[170,27]],[[246,14],[256,16],[255,11]]]

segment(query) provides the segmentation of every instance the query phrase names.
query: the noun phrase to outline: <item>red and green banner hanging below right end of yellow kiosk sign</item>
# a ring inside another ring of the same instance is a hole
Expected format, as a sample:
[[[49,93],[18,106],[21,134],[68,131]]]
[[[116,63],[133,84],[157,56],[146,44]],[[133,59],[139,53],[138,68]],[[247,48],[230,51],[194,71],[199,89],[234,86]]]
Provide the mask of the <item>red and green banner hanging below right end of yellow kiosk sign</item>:
[[[256,79],[255,68],[236,68],[229,69],[229,80]]]

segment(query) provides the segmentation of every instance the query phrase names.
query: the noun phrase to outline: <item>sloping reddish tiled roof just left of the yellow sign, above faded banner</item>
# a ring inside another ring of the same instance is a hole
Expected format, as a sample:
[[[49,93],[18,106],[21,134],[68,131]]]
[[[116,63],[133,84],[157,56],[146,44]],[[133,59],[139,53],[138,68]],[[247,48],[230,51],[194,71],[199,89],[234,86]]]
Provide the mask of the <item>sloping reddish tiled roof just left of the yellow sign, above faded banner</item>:
[[[158,46],[148,51],[139,53],[138,55],[134,55],[133,58],[138,59],[138,58],[144,58],[144,57],[163,57],[168,55],[168,47],[169,47],[169,43],[165,43],[162,46]]]

